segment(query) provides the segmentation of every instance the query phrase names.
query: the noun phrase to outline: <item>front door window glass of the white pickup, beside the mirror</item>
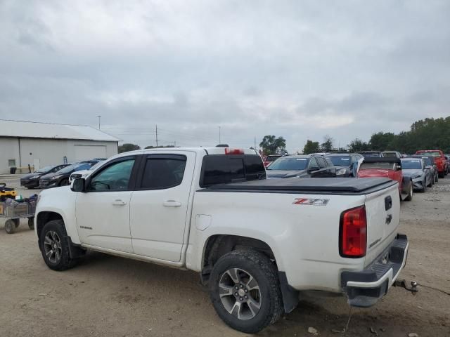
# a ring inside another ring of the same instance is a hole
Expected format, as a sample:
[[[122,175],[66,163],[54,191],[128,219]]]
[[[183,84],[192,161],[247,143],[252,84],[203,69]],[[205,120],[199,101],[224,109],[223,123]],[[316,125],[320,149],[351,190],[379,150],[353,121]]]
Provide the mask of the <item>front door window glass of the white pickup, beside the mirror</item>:
[[[133,165],[134,159],[111,164],[92,178],[89,190],[96,192],[128,190]]]

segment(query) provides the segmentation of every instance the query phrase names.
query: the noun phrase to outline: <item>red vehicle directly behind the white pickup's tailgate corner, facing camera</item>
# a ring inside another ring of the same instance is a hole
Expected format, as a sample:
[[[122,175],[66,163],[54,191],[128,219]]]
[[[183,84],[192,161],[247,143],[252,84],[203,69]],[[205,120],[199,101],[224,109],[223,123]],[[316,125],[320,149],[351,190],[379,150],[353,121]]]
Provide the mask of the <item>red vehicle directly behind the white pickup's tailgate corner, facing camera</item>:
[[[364,158],[358,171],[358,178],[375,177],[396,180],[399,183],[400,199],[406,201],[413,199],[413,181],[411,177],[404,177],[401,173],[399,158]]]

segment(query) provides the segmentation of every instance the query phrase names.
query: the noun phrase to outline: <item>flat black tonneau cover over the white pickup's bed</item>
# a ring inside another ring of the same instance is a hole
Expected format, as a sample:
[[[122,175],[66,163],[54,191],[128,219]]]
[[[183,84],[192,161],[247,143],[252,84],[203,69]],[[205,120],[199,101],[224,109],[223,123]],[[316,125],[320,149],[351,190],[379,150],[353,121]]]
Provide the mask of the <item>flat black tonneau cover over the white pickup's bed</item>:
[[[397,183],[388,178],[276,178],[212,185],[200,191],[228,192],[322,192],[361,194]]]

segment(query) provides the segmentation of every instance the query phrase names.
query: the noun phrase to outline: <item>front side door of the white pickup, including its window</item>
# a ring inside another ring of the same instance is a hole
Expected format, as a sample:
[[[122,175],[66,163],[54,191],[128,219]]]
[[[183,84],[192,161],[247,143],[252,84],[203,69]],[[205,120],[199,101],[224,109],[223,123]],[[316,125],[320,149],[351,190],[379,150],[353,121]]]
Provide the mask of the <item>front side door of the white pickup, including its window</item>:
[[[76,217],[83,244],[132,253],[129,207],[136,156],[111,161],[86,180],[79,192]]]

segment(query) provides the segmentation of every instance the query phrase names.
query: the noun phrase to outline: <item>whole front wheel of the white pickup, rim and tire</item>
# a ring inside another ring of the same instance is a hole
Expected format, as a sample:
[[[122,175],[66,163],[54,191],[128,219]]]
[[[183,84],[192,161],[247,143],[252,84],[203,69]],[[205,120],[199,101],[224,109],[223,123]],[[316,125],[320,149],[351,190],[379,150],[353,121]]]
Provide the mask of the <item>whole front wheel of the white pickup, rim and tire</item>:
[[[41,231],[39,248],[46,265],[53,270],[66,270],[75,265],[70,258],[67,232],[63,220],[51,220]]]

